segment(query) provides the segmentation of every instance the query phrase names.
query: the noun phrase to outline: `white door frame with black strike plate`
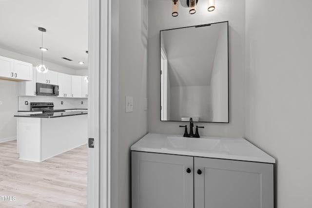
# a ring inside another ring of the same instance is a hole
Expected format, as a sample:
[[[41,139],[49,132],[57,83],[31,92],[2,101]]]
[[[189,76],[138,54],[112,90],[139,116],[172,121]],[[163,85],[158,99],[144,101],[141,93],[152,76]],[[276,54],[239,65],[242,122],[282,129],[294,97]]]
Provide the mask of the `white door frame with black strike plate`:
[[[89,0],[88,208],[110,208],[111,0]]]

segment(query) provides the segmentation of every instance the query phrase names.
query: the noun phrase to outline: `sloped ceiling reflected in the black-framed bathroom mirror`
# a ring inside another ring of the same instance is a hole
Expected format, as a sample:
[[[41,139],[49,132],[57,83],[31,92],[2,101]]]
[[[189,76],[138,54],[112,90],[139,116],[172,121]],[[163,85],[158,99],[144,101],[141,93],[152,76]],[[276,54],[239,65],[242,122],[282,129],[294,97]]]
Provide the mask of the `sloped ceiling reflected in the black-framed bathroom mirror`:
[[[189,27],[161,32],[171,86],[209,86],[220,27]]]

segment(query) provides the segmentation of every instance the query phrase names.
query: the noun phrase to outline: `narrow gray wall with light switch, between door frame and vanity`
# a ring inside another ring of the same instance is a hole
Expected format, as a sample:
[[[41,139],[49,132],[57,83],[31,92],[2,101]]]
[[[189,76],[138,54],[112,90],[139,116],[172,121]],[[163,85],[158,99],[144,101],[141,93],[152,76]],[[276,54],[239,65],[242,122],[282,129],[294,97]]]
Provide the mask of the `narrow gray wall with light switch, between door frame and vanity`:
[[[131,207],[130,147],[147,133],[147,31],[142,21],[143,2],[119,1],[118,208]],[[133,96],[132,113],[125,113],[126,95]]]

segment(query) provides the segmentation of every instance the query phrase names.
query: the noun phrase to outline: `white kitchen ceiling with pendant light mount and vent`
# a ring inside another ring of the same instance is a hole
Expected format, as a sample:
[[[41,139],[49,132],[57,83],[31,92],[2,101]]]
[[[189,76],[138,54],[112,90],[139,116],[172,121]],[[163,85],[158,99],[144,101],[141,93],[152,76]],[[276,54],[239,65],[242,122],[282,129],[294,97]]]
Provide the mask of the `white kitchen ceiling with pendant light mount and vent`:
[[[38,27],[43,62],[87,69],[88,0],[0,0],[0,48],[41,59]]]

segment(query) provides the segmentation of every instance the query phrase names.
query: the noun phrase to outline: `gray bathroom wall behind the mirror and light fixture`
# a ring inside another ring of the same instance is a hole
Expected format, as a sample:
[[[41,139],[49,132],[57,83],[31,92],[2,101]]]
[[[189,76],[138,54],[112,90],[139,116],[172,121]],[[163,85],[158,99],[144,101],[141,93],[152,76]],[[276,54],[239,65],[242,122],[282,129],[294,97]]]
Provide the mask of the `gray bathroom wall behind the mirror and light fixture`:
[[[229,21],[230,48],[230,124],[206,124],[202,134],[242,136],[245,133],[245,0],[217,0],[214,12],[207,12],[207,1],[198,1],[197,12],[179,6],[179,16],[172,18],[167,1],[149,0],[148,32],[148,131],[183,133],[180,122],[160,121],[159,31],[177,27]]]

